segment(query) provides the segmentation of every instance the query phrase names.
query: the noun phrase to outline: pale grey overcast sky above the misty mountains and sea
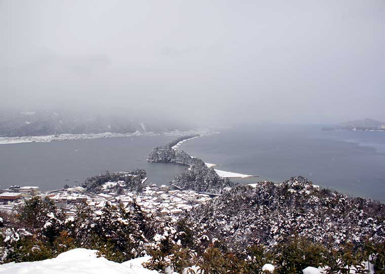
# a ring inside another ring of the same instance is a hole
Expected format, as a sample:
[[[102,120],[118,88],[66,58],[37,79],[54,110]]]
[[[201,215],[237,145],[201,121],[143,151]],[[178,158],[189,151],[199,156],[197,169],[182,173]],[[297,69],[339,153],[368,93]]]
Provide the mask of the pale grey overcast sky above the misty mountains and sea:
[[[385,1],[0,0],[0,108],[385,121]]]

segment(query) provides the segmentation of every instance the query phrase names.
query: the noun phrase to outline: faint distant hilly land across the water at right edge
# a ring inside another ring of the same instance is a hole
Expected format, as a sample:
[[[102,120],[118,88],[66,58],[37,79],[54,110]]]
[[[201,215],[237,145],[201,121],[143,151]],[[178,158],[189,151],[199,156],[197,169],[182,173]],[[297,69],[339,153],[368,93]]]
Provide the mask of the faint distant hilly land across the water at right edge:
[[[385,122],[365,118],[363,120],[354,120],[340,123],[333,127],[324,127],[322,130],[361,130],[361,131],[385,131]]]

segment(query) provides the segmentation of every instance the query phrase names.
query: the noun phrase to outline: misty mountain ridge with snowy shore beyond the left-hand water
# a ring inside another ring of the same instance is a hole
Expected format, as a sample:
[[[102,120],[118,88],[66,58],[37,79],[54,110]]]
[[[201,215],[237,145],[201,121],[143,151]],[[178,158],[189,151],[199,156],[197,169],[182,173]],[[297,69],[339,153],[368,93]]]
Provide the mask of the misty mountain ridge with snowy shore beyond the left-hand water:
[[[55,111],[23,111],[0,119],[0,136],[44,136],[84,133],[133,133],[177,129],[133,120],[123,115],[85,115]]]

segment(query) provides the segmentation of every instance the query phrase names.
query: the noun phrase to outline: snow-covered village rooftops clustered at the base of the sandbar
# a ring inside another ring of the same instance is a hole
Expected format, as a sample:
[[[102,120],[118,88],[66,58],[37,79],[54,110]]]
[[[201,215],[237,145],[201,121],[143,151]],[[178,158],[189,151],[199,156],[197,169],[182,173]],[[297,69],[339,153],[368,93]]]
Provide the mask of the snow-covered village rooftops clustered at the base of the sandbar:
[[[80,203],[87,203],[95,210],[100,210],[107,202],[111,204],[122,202],[127,206],[128,203],[135,200],[141,209],[147,213],[172,217],[183,211],[189,211],[211,199],[209,195],[204,193],[172,189],[170,186],[157,186],[155,184],[143,188],[139,194],[127,192],[123,195],[116,195],[111,190],[120,183],[122,182],[105,183],[102,186],[103,191],[99,194],[90,193],[80,186],[47,192],[40,191],[36,186],[11,186],[0,193],[0,212],[16,214],[18,205],[23,203],[24,200],[33,196],[40,196],[54,201],[56,206],[62,209],[67,216],[73,216],[76,205]]]

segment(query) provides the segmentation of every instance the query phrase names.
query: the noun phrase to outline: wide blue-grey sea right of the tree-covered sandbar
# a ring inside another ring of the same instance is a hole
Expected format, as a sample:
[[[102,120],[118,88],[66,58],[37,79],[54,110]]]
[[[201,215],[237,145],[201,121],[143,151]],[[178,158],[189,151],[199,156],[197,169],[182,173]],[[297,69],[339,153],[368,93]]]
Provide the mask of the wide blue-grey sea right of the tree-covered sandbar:
[[[314,184],[385,201],[385,132],[322,131],[322,126],[257,126],[221,130],[180,148],[218,169],[282,182],[302,175]]]

